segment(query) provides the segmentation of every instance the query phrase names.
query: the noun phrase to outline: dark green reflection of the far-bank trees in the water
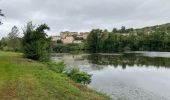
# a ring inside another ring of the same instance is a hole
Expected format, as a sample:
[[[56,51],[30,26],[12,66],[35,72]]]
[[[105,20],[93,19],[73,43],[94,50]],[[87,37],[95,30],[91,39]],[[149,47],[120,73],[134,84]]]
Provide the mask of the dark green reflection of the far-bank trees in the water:
[[[155,66],[155,67],[170,67],[170,58],[161,57],[146,57],[141,54],[126,53],[123,55],[101,55],[91,54],[83,56],[89,63],[97,65],[113,65],[114,67],[122,66]]]

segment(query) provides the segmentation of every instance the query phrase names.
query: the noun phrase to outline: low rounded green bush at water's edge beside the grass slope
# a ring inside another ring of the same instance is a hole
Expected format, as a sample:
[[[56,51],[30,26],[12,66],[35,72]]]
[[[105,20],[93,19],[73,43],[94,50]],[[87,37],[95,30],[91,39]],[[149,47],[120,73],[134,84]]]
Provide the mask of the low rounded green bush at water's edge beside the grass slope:
[[[91,76],[92,76],[86,72],[80,71],[77,68],[73,68],[71,71],[66,72],[66,75],[70,77],[72,80],[74,80],[75,82],[83,83],[83,84],[90,84]]]

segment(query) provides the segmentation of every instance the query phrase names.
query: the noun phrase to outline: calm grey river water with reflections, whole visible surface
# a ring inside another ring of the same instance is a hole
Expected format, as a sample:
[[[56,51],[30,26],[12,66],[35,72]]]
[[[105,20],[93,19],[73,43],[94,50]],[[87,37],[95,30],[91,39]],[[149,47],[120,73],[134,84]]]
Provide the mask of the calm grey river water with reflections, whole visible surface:
[[[89,87],[113,100],[170,100],[170,52],[60,53],[52,58],[92,74]]]

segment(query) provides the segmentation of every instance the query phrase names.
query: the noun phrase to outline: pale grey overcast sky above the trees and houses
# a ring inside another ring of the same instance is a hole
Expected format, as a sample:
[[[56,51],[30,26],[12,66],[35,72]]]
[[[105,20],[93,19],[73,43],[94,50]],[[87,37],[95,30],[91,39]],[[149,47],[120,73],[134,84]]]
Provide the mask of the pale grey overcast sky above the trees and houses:
[[[48,24],[48,35],[170,22],[170,0],[0,0],[0,9],[6,16],[1,18],[0,37],[28,21]]]

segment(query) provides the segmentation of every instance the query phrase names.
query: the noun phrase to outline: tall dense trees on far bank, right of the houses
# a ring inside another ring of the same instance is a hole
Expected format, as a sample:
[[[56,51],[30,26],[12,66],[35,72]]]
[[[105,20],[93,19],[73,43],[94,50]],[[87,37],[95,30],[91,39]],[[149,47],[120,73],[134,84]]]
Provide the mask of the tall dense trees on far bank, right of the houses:
[[[170,51],[170,30],[157,28],[145,31],[124,29],[108,32],[93,29],[86,40],[85,46],[89,52],[123,52],[123,51]],[[169,27],[168,27],[169,29]],[[126,33],[127,32],[127,33]]]

